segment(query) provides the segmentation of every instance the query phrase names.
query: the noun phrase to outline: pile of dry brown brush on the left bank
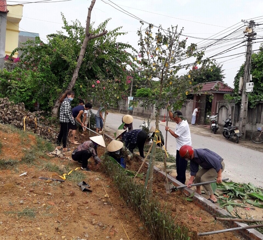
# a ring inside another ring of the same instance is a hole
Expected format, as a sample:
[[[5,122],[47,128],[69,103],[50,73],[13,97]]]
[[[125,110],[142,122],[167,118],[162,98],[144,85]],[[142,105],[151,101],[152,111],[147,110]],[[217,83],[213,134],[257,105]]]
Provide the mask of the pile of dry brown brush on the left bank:
[[[56,131],[50,128],[49,121],[43,116],[44,111],[31,113],[24,103],[14,104],[8,98],[0,98],[0,122],[10,124],[24,131],[31,131],[39,137],[55,141]]]

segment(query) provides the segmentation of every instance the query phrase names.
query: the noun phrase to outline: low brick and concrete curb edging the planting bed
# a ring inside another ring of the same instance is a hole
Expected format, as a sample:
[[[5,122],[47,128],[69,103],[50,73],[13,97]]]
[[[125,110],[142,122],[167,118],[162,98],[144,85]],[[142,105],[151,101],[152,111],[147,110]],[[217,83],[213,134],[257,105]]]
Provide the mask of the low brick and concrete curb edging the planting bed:
[[[108,138],[111,138],[108,134],[104,133]],[[113,139],[113,138],[111,138]],[[138,159],[140,159],[143,162],[143,158],[136,156]],[[145,163],[148,165],[148,163]],[[156,174],[158,174],[160,177],[162,177],[165,181],[166,181],[166,174],[165,172],[163,172],[162,170],[160,170],[159,168],[154,166],[154,172]],[[171,177],[169,174],[167,174],[167,178],[169,180],[169,182],[173,183],[176,187],[178,186],[183,186],[182,183],[178,182],[175,178]],[[191,195],[194,191],[189,189],[189,188],[181,188],[180,191],[182,191],[186,196]],[[221,215],[221,216],[232,216],[230,215],[227,211],[225,211],[224,209],[221,209],[220,207],[218,207],[216,204],[208,201],[206,198],[202,197],[201,195],[194,193],[193,196],[193,202],[200,207],[201,209],[203,209],[204,211],[208,212],[209,214],[211,214],[212,216],[217,216],[217,215]],[[247,224],[242,223],[242,222],[226,222],[226,225],[229,227],[244,227],[247,226]],[[253,240],[263,240],[263,234],[261,234],[260,232],[258,232],[255,229],[244,229],[244,230],[239,230],[236,231],[238,232],[238,234],[242,237],[244,237],[247,240],[253,239]]]

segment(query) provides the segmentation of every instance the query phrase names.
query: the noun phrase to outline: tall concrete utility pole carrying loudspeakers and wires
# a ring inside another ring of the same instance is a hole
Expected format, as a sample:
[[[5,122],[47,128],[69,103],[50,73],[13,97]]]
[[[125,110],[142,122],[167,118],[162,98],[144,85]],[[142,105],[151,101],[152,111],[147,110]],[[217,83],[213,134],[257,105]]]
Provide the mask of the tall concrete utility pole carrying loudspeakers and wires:
[[[244,77],[243,83],[241,83],[242,88],[242,98],[241,98],[241,106],[240,106],[240,118],[239,118],[239,131],[243,134],[243,139],[246,136],[246,122],[247,122],[247,109],[248,109],[248,95],[246,92],[246,83],[250,82],[250,67],[251,67],[251,55],[252,55],[252,42],[256,35],[253,31],[253,27],[255,26],[255,22],[250,20],[250,22],[243,21],[245,23],[249,23],[249,27],[246,27],[244,33],[247,33],[247,51],[246,51],[246,61],[244,66]],[[241,80],[242,81],[242,78]]]

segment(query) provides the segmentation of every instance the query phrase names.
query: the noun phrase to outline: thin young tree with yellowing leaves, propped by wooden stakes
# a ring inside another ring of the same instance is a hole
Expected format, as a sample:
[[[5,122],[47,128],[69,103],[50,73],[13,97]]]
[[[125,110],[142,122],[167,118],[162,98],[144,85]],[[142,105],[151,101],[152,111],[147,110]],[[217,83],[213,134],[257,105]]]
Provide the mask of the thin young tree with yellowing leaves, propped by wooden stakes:
[[[198,68],[197,65],[202,68],[209,68],[211,62],[209,59],[203,60],[204,52],[198,52],[196,44],[191,43],[187,47],[187,38],[181,39],[183,29],[178,30],[177,26],[171,26],[164,30],[159,26],[157,32],[153,33],[153,27],[152,24],[149,24],[146,29],[142,30],[141,27],[138,31],[140,52],[139,59],[135,58],[135,60],[142,66],[141,75],[149,81],[149,86],[151,86],[153,78],[159,81],[159,89],[153,91],[152,95],[145,98],[143,103],[144,107],[155,104],[155,125],[156,130],[159,130],[160,109],[165,109],[168,103],[170,103],[168,105],[169,110],[171,108],[180,109],[190,93],[190,89],[193,88],[193,71]],[[183,63],[188,58],[188,63]],[[178,71],[181,69],[185,69],[188,74],[179,76]],[[158,136],[159,133],[157,132],[156,135]],[[157,140],[156,136],[154,140]],[[149,168],[147,179],[149,173],[152,175],[153,172],[155,141],[150,156],[151,169]],[[151,184],[152,181],[150,181],[150,189]]]

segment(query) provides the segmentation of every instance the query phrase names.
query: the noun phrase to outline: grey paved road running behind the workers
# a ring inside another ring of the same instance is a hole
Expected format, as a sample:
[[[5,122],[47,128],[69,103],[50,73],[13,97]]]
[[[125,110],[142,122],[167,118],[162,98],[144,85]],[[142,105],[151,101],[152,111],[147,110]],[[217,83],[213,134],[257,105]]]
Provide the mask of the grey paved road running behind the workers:
[[[94,112],[96,112],[96,110]],[[115,132],[122,123],[121,119],[123,115],[124,114],[109,113],[106,118],[106,131],[111,130]],[[147,118],[133,117],[134,129],[138,129],[139,125],[142,124],[144,120],[147,122]],[[152,125],[155,125],[155,121],[150,123],[150,126]],[[165,138],[166,123],[160,121],[159,126],[160,131]],[[171,129],[175,129],[176,123],[169,122],[168,126]],[[255,147],[253,147],[253,144],[251,144],[250,141],[244,141],[244,144],[243,141],[241,141],[241,144],[236,144],[229,140],[226,141],[221,133],[213,134],[208,128],[200,126],[190,125],[190,130],[193,148],[208,148],[224,158],[226,165],[223,173],[224,178],[229,178],[232,181],[239,183],[250,182],[258,187],[263,187],[263,153],[251,149]],[[262,146],[258,145],[257,148],[262,149]],[[167,151],[170,154],[176,154],[176,141],[169,133],[167,137]]]

